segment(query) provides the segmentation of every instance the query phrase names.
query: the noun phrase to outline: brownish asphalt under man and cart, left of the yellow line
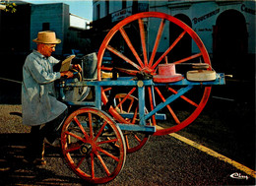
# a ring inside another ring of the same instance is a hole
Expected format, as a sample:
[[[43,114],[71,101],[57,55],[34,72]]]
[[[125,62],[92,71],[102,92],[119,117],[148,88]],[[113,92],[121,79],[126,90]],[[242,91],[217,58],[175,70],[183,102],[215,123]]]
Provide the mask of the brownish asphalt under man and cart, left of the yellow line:
[[[20,112],[21,105],[0,104],[0,185],[90,185],[68,168],[59,149],[46,148],[45,166],[23,161],[30,128]],[[234,173],[242,179],[231,178]],[[167,135],[127,155],[123,170],[105,185],[255,185],[255,179]]]

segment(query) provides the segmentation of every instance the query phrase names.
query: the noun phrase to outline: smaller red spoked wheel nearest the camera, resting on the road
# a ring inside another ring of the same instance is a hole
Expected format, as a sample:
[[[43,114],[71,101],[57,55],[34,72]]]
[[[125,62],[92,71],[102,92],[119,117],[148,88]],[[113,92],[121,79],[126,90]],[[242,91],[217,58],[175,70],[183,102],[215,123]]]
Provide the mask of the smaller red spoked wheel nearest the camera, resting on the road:
[[[106,183],[122,170],[125,141],[119,127],[96,108],[80,108],[65,120],[62,152],[69,166],[91,183]]]

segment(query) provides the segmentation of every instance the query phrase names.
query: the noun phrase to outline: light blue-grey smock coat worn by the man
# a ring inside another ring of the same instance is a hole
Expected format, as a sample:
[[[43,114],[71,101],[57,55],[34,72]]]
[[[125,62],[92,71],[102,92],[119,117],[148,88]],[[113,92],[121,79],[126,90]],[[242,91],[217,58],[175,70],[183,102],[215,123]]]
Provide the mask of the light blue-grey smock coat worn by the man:
[[[25,125],[40,125],[59,116],[67,106],[55,96],[54,81],[60,79],[53,66],[59,60],[33,50],[23,67],[22,107]]]

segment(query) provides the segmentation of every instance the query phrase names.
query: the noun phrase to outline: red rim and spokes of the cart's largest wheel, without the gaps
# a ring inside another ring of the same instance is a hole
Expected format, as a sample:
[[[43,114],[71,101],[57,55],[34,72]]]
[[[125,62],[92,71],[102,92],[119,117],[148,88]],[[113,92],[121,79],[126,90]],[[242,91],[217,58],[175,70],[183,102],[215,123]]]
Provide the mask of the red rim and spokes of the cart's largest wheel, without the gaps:
[[[159,30],[157,32],[156,38],[152,38],[152,37],[150,38],[150,39],[155,39],[154,47],[153,47],[151,56],[149,56],[149,54],[148,54],[148,47],[147,47],[147,43],[149,43],[149,41],[146,42],[147,37],[145,36],[147,31],[145,31],[144,22],[148,21],[146,19],[148,19],[148,20],[151,20],[151,19],[160,20]],[[177,38],[174,39],[174,41],[162,52],[162,54],[160,55],[160,58],[155,60],[155,58],[157,56],[156,54],[158,52],[158,48],[159,48],[159,45],[160,45],[160,39],[161,39],[161,35],[162,35],[162,32],[163,32],[164,26],[167,25],[166,22],[169,22],[169,23],[172,23],[172,24],[176,25],[182,31],[179,33]],[[138,24],[139,35],[140,35],[140,38],[141,38],[142,55],[140,55],[138,53],[139,52],[138,48],[135,47],[132,44],[132,40],[129,38],[128,32],[125,31],[126,28],[128,28],[128,26],[133,24],[133,23]],[[118,31],[123,36],[123,39],[127,43],[128,48],[130,48],[130,50],[134,54],[136,61],[133,61],[132,59],[130,59],[130,56],[125,56],[122,52],[113,48],[109,44],[111,39],[114,37],[115,34],[117,34]],[[166,14],[163,14],[163,13],[158,13],[158,12],[144,12],[144,13],[139,13],[139,14],[136,14],[136,15],[133,15],[131,17],[128,17],[128,18],[124,19],[123,21],[118,23],[115,27],[113,27],[107,33],[107,35],[105,36],[104,40],[102,41],[102,43],[100,45],[100,48],[99,48],[98,54],[97,54],[97,60],[98,60],[98,62],[97,62],[97,79],[99,81],[101,81],[101,75],[100,75],[100,72],[102,70],[101,61],[102,61],[102,56],[105,52],[105,49],[109,50],[114,55],[116,55],[116,56],[120,57],[121,59],[125,60],[128,65],[131,65],[133,67],[133,69],[129,69],[129,68],[127,68],[126,70],[121,69],[121,72],[123,72],[123,73],[127,72],[127,74],[133,75],[133,76],[135,76],[138,72],[143,72],[143,73],[146,73],[146,74],[149,74],[149,75],[156,75],[156,72],[158,70],[158,67],[159,67],[161,61],[171,52],[171,50],[177,45],[177,43],[182,38],[184,38],[185,34],[188,34],[192,38],[192,40],[196,43],[199,52],[197,54],[191,54],[191,56],[185,57],[183,59],[179,59],[179,60],[174,61],[172,63],[173,64],[180,64],[180,63],[185,64],[185,63],[187,63],[191,60],[197,60],[198,63],[202,62],[202,63],[209,64],[209,70],[211,70],[211,62],[210,62],[208,52],[207,52],[202,40],[199,38],[199,36],[197,35],[197,33],[195,31],[193,31],[191,28],[189,28],[183,22],[179,21],[178,19],[176,19],[172,16],[169,16],[169,15],[166,15]],[[143,57],[143,60],[141,59],[141,57]],[[149,59],[149,61],[148,61],[148,59]],[[175,87],[171,87],[171,88],[166,87],[165,91],[169,91],[169,93],[174,93],[175,94],[175,93],[177,93],[176,89],[177,88],[175,88]],[[154,100],[152,99],[152,97],[154,96],[154,93],[152,91],[150,91],[150,89],[147,89],[147,90],[148,90],[148,93],[149,93],[149,101],[146,100],[146,102],[149,102],[151,109],[154,109],[155,103],[154,103]],[[160,88],[158,88],[157,90],[159,90],[158,95],[160,96],[160,100],[164,101],[165,91],[161,90]],[[155,91],[156,91],[156,89],[155,89]],[[202,88],[202,95],[201,95],[200,100],[194,99],[193,94],[192,95],[184,94],[184,95],[180,96],[180,98],[182,100],[184,100],[184,102],[187,104],[188,107],[192,106],[194,108],[194,110],[188,116],[186,116],[186,118],[180,119],[178,114],[176,114],[176,110],[173,109],[172,105],[166,106],[167,110],[169,111],[170,115],[172,116],[172,119],[174,119],[174,121],[175,121],[175,125],[174,126],[169,126],[167,128],[161,129],[161,130],[158,130],[154,135],[169,134],[169,133],[172,133],[172,132],[179,131],[180,129],[189,125],[191,122],[193,122],[198,117],[200,112],[203,110],[203,108],[206,105],[207,100],[210,96],[210,93],[211,93],[211,87],[205,87],[205,88]],[[199,93],[196,93],[196,94],[199,94]],[[108,102],[107,96],[105,95],[104,92],[102,92],[101,98],[102,98],[102,102],[104,104],[106,104]],[[184,109],[186,109],[186,106],[184,107]],[[129,123],[129,122],[127,122],[127,120],[125,118],[123,118],[113,108],[113,106],[110,106],[109,113],[118,122],[127,123],[127,124]],[[154,118],[155,118],[155,116],[152,117],[152,122],[153,122],[153,125],[156,125],[157,123],[155,123]]]

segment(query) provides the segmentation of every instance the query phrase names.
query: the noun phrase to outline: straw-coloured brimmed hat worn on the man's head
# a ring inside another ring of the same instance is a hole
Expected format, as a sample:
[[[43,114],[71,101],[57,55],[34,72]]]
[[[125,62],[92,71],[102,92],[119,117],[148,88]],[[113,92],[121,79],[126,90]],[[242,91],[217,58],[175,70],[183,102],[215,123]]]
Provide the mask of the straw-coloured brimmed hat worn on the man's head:
[[[37,38],[32,39],[33,42],[44,44],[59,44],[61,40],[56,38],[54,31],[39,31]]]

